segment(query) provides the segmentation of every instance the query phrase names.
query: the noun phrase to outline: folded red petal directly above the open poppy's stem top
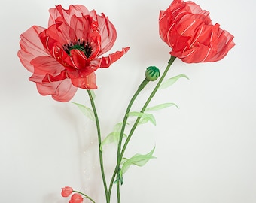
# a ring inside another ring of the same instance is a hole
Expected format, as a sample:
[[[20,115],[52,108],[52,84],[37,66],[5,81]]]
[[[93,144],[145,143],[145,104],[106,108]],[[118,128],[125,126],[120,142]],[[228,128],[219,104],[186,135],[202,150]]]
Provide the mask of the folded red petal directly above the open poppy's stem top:
[[[82,89],[97,89],[96,74],[87,75],[86,77],[72,78],[72,84]]]

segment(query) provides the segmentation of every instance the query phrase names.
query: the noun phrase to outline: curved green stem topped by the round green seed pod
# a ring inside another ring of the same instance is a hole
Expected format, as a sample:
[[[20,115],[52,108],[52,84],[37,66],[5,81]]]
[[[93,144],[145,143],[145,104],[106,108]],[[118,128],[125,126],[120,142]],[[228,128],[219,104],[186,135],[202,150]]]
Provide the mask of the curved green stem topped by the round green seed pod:
[[[124,133],[124,129],[125,129],[125,126],[126,126],[126,123],[127,123],[127,119],[128,119],[128,114],[129,114],[130,109],[133,105],[133,102],[135,101],[135,99],[139,95],[139,92],[141,92],[142,89],[144,89],[144,87],[148,84],[148,82],[149,81],[147,79],[142,81],[141,85],[138,87],[137,91],[135,92],[135,94],[131,98],[131,100],[130,100],[127,108],[126,108],[126,112],[125,112],[124,117],[123,117],[123,123],[122,123],[121,131],[120,131],[120,138],[119,138],[119,141],[118,141],[118,147],[117,147],[117,167],[114,170],[114,174],[111,178],[111,182],[110,182],[109,189],[108,189],[109,198],[111,196],[111,189],[112,189],[112,186],[113,186],[113,183],[114,183],[114,178],[115,178],[117,172],[119,171],[119,166],[120,166],[120,162],[121,162],[120,151],[121,151],[121,146],[122,146],[123,133]],[[120,203],[120,185],[119,184],[120,184],[119,181],[117,181],[117,202],[118,203]]]

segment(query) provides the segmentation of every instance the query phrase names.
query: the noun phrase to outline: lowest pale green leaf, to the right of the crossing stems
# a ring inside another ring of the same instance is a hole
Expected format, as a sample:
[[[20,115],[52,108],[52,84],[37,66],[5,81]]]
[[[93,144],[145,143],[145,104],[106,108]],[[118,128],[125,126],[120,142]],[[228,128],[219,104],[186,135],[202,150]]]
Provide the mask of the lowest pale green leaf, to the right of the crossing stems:
[[[123,166],[120,171],[120,176],[122,176],[130,168],[131,165],[137,165],[137,166],[142,167],[150,159],[155,159],[156,157],[152,156],[154,153],[154,148],[147,154],[142,155],[142,154],[137,153],[132,158],[126,159],[126,161],[123,162]]]

